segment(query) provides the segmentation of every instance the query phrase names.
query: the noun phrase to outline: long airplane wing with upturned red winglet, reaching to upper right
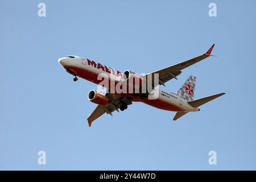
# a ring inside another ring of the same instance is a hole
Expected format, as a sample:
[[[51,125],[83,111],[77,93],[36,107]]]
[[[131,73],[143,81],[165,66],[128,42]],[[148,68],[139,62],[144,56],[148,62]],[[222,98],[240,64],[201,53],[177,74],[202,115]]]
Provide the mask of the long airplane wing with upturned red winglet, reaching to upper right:
[[[210,53],[212,52],[212,49],[214,47],[214,44],[212,45],[212,47],[210,47],[210,49],[204,53],[203,55],[197,56],[197,57],[193,57],[192,59],[183,61],[181,63],[172,65],[171,67],[167,67],[164,69],[160,69],[158,71],[152,72],[152,73],[148,73],[147,75],[144,75],[143,77],[148,78],[148,76],[152,77],[152,87],[155,88],[158,85],[154,84],[154,74],[158,73],[159,75],[159,85],[164,85],[165,82],[171,80],[172,78],[175,78],[177,80],[177,76],[180,75],[181,70],[184,68],[187,68],[195,63],[198,63],[199,61],[209,57],[209,56],[213,56],[210,55]],[[165,86],[165,85],[164,85]]]

